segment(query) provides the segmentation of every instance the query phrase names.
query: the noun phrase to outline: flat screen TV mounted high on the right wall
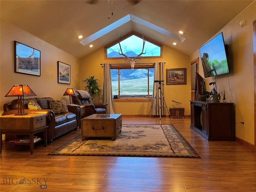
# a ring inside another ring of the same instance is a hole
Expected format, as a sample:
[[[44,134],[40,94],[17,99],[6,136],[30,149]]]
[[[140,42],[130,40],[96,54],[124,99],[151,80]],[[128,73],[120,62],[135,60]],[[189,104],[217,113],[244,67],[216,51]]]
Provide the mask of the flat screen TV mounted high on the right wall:
[[[199,48],[204,77],[229,73],[222,32]]]

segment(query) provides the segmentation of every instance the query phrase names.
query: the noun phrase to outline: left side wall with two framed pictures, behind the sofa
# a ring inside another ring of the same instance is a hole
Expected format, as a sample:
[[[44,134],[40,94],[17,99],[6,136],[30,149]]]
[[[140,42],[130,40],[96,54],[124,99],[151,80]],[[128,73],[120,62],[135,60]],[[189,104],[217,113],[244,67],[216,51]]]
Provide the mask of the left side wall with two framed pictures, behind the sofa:
[[[15,97],[4,97],[14,84],[28,84],[36,93],[36,97],[52,97],[64,99],[66,88],[77,88],[78,58],[44,42],[28,32],[1,20],[1,60],[0,60],[0,114],[5,103]],[[14,40],[41,51],[41,76],[14,73]],[[57,61],[70,65],[71,84],[58,84]]]

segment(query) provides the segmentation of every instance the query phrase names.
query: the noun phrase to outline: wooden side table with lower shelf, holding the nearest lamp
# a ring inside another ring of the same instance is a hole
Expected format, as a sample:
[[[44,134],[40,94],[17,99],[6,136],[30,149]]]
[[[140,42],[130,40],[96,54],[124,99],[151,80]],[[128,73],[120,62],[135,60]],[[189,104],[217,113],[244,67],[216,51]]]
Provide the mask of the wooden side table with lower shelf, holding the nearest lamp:
[[[34,134],[44,132],[44,146],[47,146],[46,114],[4,115],[0,117],[0,153],[2,152],[2,134],[29,135],[29,142],[6,144],[29,144],[30,154],[34,153]],[[42,140],[42,139],[41,139]],[[40,141],[40,140],[39,140]],[[39,142],[37,141],[37,142]],[[36,143],[36,142],[35,142]]]

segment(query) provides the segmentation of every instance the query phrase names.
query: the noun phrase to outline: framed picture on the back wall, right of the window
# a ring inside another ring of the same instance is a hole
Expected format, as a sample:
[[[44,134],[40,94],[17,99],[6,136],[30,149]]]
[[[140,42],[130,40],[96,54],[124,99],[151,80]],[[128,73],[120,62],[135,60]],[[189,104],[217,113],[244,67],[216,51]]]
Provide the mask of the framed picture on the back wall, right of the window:
[[[166,69],[166,84],[187,84],[187,69]]]

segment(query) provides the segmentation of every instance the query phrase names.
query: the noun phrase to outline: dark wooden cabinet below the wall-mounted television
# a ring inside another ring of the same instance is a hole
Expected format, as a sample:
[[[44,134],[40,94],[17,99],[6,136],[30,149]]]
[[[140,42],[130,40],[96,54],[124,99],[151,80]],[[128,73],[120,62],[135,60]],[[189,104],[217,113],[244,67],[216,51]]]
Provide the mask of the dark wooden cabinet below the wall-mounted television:
[[[190,128],[207,140],[235,140],[234,104],[190,101]]]

